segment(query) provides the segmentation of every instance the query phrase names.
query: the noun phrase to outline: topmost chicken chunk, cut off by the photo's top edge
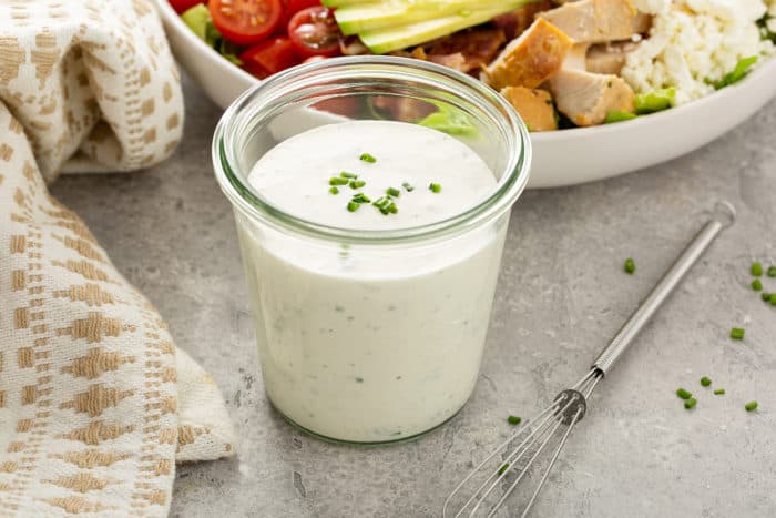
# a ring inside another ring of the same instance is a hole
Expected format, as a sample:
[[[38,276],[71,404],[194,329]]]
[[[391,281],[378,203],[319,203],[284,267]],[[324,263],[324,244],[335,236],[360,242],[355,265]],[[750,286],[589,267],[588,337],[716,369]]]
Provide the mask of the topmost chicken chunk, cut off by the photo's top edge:
[[[575,43],[627,40],[634,33],[636,9],[631,0],[580,0],[542,12]]]

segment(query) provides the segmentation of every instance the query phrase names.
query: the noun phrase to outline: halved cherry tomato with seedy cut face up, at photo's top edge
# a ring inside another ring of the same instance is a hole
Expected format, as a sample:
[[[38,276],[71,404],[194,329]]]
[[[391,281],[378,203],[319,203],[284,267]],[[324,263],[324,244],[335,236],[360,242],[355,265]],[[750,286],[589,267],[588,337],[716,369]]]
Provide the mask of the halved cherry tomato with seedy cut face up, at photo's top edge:
[[[213,23],[232,43],[252,45],[280,21],[280,0],[210,0]]]

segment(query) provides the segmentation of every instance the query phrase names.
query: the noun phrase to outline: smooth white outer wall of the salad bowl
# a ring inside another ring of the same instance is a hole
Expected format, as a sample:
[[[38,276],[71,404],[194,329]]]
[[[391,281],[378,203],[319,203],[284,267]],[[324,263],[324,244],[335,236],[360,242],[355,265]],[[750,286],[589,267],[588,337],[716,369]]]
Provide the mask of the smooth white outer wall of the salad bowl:
[[[155,0],[178,62],[216,104],[228,106],[259,80],[188,30],[167,0]],[[776,95],[776,59],[704,99],[627,122],[532,133],[529,189],[630,173],[688,153],[732,130]]]

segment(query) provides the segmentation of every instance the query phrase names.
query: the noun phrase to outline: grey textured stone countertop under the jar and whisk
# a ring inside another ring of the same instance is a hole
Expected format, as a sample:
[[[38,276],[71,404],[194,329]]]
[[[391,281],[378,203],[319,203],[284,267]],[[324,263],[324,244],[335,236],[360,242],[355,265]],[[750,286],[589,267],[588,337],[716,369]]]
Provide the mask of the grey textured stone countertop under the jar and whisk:
[[[439,516],[471,463],[511,431],[506,416],[530,416],[588,369],[716,199],[736,205],[738,222],[600,385],[532,516],[776,516],[776,307],[748,287],[753,258],[776,264],[776,102],[673,162],[524,193],[471,400],[420,440],[363,449],[308,437],[267,403],[232,211],[211,169],[221,110],[188,82],[185,93],[172,160],[52,189],[226,398],[239,455],[178,467],[172,516]],[[728,338],[733,326],[744,342]],[[702,388],[704,375],[727,394]],[[694,410],[678,386],[700,395]],[[746,413],[752,399],[759,409]]]

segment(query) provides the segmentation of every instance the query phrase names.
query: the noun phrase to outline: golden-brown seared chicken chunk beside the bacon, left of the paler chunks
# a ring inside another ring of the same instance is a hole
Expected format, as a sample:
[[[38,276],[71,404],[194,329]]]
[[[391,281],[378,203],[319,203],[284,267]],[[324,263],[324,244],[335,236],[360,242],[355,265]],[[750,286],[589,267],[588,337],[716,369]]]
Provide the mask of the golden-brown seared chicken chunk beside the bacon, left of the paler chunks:
[[[539,18],[483,69],[480,79],[496,90],[537,88],[560,70],[571,45],[560,29]]]

